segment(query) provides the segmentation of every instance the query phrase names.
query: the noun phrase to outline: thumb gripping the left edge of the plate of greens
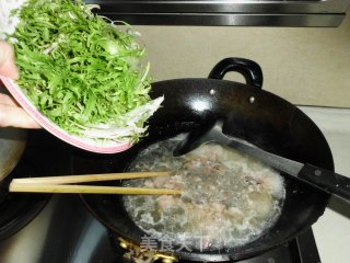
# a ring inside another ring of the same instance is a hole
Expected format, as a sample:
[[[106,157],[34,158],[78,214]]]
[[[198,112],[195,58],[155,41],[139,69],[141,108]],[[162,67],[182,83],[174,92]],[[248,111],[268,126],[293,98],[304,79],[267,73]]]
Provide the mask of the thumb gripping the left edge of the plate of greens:
[[[0,75],[14,80],[20,77],[19,69],[14,61],[13,47],[2,41],[0,41]]]

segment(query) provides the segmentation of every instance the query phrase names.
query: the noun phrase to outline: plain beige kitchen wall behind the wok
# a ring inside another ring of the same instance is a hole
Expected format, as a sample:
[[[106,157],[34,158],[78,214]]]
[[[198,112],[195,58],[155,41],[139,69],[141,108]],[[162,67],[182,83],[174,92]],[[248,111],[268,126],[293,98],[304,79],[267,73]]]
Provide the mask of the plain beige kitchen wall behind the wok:
[[[136,26],[156,80],[207,77],[225,57],[257,61],[292,103],[350,107],[350,15],[337,28]],[[228,79],[243,81],[230,73]]]

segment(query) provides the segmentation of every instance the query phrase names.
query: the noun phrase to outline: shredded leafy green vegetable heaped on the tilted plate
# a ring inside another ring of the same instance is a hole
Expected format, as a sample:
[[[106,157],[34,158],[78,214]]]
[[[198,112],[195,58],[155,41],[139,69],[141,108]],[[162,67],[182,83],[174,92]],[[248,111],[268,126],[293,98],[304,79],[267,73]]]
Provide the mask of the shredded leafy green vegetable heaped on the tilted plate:
[[[75,135],[130,125],[128,113],[151,101],[149,66],[141,67],[144,48],[130,26],[121,31],[92,7],[81,0],[30,0],[10,38],[20,87],[50,121]],[[133,118],[132,125],[143,127],[148,117]]]

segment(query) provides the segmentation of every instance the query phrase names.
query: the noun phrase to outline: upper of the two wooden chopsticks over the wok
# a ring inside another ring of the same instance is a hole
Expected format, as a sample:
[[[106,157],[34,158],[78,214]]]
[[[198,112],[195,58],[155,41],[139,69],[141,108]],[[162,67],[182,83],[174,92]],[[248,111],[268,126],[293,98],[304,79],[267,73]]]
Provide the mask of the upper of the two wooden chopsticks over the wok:
[[[124,179],[155,178],[170,175],[170,172],[130,172],[130,173],[104,173],[104,174],[81,174],[81,175],[62,175],[46,178],[24,178],[13,179],[13,183],[35,183],[35,184],[70,184],[70,183],[88,183],[103,182]]]

